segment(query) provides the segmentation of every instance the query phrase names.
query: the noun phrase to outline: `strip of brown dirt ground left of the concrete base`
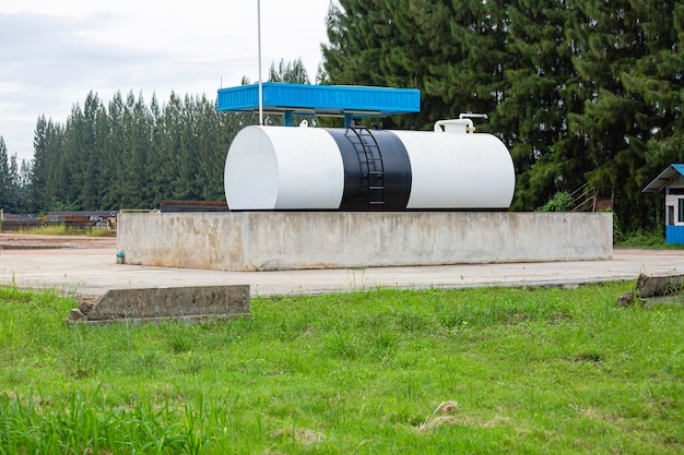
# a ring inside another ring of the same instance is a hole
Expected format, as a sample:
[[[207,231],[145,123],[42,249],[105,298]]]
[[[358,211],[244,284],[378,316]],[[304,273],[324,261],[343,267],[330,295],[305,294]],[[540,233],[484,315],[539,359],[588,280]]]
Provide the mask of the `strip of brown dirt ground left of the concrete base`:
[[[116,248],[116,237],[36,236],[0,232],[0,250],[43,250],[62,248]]]

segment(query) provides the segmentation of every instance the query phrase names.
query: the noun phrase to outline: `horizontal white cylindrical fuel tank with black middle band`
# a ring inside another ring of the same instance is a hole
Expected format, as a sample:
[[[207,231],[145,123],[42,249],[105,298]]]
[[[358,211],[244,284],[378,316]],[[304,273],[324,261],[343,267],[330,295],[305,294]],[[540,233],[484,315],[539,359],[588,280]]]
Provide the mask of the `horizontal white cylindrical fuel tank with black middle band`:
[[[237,211],[506,209],[512,159],[469,119],[435,131],[247,127],[225,163]]]

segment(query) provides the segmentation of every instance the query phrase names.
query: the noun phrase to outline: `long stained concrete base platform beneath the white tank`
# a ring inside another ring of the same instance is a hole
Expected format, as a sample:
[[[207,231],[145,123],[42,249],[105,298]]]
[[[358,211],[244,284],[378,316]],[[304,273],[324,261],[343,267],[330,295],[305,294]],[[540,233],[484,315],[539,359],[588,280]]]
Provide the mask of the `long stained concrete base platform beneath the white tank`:
[[[120,213],[126,264],[233,272],[610,259],[610,213]]]

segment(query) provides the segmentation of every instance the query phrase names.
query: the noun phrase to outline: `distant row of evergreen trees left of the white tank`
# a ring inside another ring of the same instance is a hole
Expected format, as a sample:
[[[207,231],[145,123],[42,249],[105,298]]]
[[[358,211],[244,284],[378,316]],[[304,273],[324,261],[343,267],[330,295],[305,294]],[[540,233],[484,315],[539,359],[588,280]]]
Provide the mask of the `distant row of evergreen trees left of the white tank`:
[[[269,80],[309,83],[302,59],[272,64]],[[119,92],[105,104],[91,92],[83,106],[73,106],[66,123],[38,119],[34,159],[22,163],[21,170],[0,137],[0,207],[40,213],[154,208],[164,200],[222,201],[231,142],[257,122],[251,113],[217,112],[205,95],[172,93],[164,105],[153,95],[148,105],[142,94],[125,97]]]

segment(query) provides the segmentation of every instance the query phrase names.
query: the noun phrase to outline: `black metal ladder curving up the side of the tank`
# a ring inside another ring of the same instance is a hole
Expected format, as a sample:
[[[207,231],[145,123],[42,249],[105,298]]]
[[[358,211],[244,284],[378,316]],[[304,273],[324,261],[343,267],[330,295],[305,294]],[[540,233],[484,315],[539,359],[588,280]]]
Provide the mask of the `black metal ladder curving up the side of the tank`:
[[[349,127],[345,135],[358,155],[362,187],[368,192],[368,209],[381,211],[385,207],[385,165],[380,147],[365,127]]]

